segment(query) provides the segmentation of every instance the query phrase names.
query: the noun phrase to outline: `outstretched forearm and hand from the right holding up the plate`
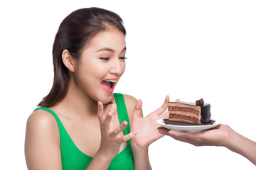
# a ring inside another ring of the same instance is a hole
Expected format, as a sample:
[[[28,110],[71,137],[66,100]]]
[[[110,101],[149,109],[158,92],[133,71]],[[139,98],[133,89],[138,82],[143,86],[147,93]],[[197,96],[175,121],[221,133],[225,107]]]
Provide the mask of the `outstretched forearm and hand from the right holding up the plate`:
[[[256,142],[243,137],[228,125],[204,132],[176,132],[166,128],[158,128],[159,133],[169,135],[175,140],[190,143],[195,146],[223,146],[246,157],[256,165]]]

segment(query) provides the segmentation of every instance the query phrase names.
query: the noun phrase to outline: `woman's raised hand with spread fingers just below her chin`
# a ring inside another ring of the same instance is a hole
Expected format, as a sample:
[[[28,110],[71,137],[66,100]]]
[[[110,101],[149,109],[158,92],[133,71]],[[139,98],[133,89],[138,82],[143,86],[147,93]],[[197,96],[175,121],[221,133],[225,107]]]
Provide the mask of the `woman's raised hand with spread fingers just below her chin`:
[[[127,127],[127,122],[122,122],[119,127],[114,127],[114,115],[117,113],[117,105],[112,104],[110,111],[104,115],[102,102],[98,102],[97,117],[100,121],[101,141],[98,152],[105,154],[108,158],[114,158],[119,152],[120,145],[130,140],[137,133],[121,135],[122,130]]]

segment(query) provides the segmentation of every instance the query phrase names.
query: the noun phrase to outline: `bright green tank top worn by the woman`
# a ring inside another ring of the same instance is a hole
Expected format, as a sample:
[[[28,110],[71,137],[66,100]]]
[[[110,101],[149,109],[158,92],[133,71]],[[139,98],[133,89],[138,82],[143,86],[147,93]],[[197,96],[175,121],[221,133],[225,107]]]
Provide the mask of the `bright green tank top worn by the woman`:
[[[124,96],[122,94],[114,94],[114,98],[117,103],[117,114],[119,117],[119,122],[122,123],[124,120],[126,120],[128,123],[127,128],[123,130],[124,135],[127,135],[130,132],[130,126],[127,108],[124,103]],[[82,151],[80,151],[78,147],[75,146],[73,140],[70,138],[70,135],[68,135],[68,132],[65,130],[63,124],[60,122],[60,119],[53,111],[51,111],[49,108],[44,107],[36,108],[36,110],[38,109],[43,109],[51,113],[58,123],[58,129],[60,132],[61,161],[63,169],[85,170],[92,161],[93,157],[87,156]],[[121,152],[119,152],[119,154],[117,154],[114,159],[112,159],[112,162],[110,163],[108,169],[134,169],[131,140],[129,140],[127,142],[127,146]]]

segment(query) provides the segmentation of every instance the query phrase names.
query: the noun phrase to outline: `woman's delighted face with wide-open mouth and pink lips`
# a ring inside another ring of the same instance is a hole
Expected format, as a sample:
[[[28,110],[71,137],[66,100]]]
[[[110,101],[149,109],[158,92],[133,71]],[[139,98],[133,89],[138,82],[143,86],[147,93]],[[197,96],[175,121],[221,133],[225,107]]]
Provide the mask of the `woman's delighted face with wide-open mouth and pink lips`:
[[[125,52],[124,34],[116,28],[95,35],[75,68],[75,81],[82,92],[95,101],[109,103],[125,70]]]

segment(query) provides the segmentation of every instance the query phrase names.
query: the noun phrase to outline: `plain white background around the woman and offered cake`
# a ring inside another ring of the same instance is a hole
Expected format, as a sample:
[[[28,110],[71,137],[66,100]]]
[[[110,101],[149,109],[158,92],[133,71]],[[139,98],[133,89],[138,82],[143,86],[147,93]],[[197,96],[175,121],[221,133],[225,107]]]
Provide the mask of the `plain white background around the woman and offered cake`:
[[[26,169],[26,120],[53,83],[52,45],[78,8],[118,13],[127,29],[127,69],[116,92],[141,98],[144,115],[170,100],[203,98],[216,120],[256,141],[256,2],[8,1],[0,3],[0,169]],[[254,169],[223,147],[163,137],[149,147],[153,169]]]

